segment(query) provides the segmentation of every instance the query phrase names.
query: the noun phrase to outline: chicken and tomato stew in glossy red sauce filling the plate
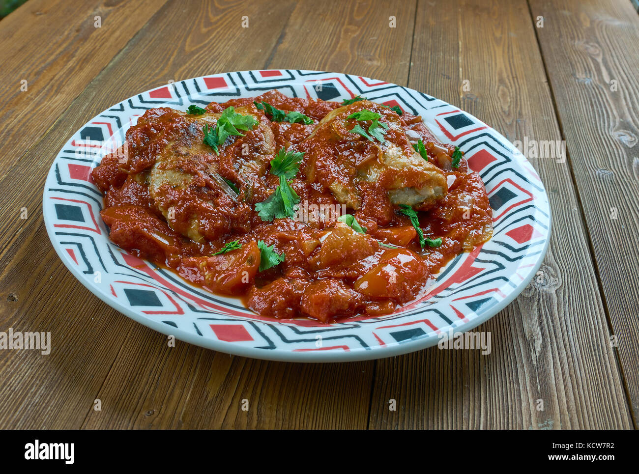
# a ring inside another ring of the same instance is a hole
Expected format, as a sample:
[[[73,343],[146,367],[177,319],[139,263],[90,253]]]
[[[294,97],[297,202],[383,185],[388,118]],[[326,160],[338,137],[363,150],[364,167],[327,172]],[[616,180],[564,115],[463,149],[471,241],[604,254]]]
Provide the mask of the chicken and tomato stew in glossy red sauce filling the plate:
[[[254,100],[313,123],[271,121]],[[229,106],[258,125],[229,137],[217,155],[203,143],[202,129],[215,126]],[[357,123],[370,125],[346,118],[363,109],[388,125],[383,144],[351,132]],[[427,161],[413,149],[419,139]],[[264,221],[255,205],[279,185],[269,170],[282,148],[304,152],[289,181],[300,210],[295,218]],[[127,147],[105,156],[93,178],[104,192],[109,238],[119,247],[208,291],[240,296],[262,316],[326,323],[394,312],[452,257],[490,238],[484,183],[464,158],[453,167],[453,153],[408,112],[270,91],[211,103],[199,116],[148,110],[127,131]],[[399,212],[404,202],[417,211],[424,236],[441,238],[441,245],[420,246],[411,220]],[[337,220],[343,214],[366,233]],[[284,254],[284,262],[259,271],[260,240]],[[241,247],[213,255],[231,241]]]

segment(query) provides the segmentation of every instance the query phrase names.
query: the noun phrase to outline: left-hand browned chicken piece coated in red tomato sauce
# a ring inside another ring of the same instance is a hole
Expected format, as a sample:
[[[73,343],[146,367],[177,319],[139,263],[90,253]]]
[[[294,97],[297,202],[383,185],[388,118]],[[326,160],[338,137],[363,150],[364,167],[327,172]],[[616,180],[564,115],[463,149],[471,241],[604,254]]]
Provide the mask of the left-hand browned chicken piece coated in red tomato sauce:
[[[215,127],[220,114],[183,114],[184,128],[158,147],[151,168],[149,192],[158,209],[173,229],[195,241],[248,231],[250,203],[265,197],[258,188],[275,153],[270,124],[252,106],[238,107],[235,112],[254,116],[258,125],[237,137],[233,146],[225,147],[221,156],[203,142],[203,126]],[[220,176],[220,160],[236,165],[233,177],[243,196]]]

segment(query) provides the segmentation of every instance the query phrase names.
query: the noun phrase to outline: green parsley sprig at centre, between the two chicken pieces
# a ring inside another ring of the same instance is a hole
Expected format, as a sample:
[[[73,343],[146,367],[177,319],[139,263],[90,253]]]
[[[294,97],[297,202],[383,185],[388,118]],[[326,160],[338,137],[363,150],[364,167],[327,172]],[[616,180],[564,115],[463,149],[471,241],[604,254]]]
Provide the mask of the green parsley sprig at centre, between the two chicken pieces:
[[[282,148],[277,156],[271,160],[270,172],[279,176],[280,183],[266,201],[255,205],[255,210],[261,220],[270,221],[275,218],[295,216],[295,206],[300,203],[300,197],[287,180],[294,178],[300,171],[300,160],[303,156],[304,153],[299,151],[285,151]]]

